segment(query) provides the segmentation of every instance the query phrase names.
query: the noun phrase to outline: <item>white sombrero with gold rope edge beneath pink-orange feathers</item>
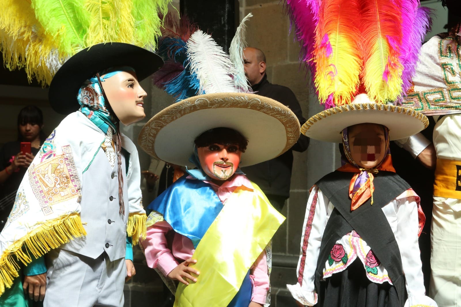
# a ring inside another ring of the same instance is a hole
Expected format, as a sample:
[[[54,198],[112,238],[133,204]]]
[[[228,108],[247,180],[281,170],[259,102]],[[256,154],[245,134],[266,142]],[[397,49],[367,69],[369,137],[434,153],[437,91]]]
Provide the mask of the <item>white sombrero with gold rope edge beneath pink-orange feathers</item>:
[[[378,104],[359,94],[348,105],[335,106],[315,114],[301,127],[301,133],[315,140],[340,143],[344,128],[355,124],[382,124],[390,140],[412,136],[425,129],[429,120],[412,108]]]

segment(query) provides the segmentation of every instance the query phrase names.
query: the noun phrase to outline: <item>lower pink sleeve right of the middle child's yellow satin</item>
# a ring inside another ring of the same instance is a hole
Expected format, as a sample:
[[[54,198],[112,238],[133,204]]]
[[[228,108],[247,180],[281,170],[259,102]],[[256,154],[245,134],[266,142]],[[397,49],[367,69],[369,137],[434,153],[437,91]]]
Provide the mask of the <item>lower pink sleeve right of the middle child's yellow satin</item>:
[[[253,281],[253,295],[251,301],[266,304],[267,291],[269,291],[269,272],[267,269],[266,250],[263,250],[251,269],[250,278]]]

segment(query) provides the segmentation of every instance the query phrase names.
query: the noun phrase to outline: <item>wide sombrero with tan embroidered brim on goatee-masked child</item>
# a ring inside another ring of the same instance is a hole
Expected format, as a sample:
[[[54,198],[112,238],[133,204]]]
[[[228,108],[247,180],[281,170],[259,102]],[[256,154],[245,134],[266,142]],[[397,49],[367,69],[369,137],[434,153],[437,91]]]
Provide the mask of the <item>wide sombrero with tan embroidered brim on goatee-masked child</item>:
[[[296,115],[278,101],[256,94],[217,93],[166,107],[144,125],[138,142],[153,157],[191,167],[195,138],[218,127],[234,129],[248,140],[240,166],[273,159],[300,136]]]

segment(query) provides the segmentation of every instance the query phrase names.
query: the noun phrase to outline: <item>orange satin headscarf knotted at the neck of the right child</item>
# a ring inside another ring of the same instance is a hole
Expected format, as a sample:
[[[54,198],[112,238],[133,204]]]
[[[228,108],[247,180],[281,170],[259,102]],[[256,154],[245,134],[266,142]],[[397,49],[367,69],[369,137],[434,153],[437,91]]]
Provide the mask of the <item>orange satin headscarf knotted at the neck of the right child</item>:
[[[392,166],[392,159],[390,158],[389,149],[389,129],[386,126],[382,126],[384,129],[384,143],[385,143],[385,155],[379,164],[372,169],[364,169],[352,159],[349,146],[349,130],[345,128],[343,130],[343,149],[344,155],[341,156],[341,163],[343,166],[338,168],[338,171],[349,171],[355,172],[355,174],[349,184],[349,197],[351,198],[350,210],[353,211],[365,203],[368,199],[372,199],[373,204],[373,174],[377,174],[378,171],[392,171],[396,172]],[[345,157],[344,157],[345,156]]]

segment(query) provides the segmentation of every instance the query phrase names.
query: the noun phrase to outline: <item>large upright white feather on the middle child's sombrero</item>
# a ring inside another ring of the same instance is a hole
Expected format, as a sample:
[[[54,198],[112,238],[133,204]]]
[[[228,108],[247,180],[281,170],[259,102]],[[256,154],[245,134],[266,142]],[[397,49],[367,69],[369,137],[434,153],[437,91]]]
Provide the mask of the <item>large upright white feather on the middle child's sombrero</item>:
[[[213,38],[197,30],[187,41],[190,71],[200,80],[200,93],[237,92],[231,77],[232,62],[229,55]]]

